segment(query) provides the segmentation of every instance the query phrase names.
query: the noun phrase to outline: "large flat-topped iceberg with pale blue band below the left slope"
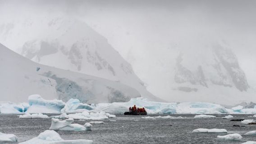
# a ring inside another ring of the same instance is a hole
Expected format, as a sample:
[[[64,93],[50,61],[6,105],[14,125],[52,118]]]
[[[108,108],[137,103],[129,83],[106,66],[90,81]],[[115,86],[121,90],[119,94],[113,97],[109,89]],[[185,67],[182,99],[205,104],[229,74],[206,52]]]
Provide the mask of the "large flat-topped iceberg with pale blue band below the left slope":
[[[62,100],[45,100],[38,94],[33,94],[28,97],[29,113],[60,113],[60,110],[65,107]]]

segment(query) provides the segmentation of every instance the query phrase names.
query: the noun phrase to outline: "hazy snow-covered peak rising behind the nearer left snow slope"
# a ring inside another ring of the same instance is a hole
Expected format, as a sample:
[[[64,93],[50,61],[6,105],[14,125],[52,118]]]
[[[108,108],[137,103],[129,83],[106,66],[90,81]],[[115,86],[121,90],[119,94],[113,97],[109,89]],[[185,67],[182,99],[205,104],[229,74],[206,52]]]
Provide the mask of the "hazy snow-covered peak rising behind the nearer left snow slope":
[[[38,16],[5,22],[0,42],[37,63],[118,81],[159,100],[107,39],[78,19]]]

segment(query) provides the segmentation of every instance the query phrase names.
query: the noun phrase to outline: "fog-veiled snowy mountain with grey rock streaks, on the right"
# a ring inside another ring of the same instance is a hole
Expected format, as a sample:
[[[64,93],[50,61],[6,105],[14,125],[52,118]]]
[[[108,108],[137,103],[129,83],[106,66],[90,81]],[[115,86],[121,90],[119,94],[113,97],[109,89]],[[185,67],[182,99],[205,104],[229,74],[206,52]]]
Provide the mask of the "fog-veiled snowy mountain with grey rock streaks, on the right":
[[[239,61],[221,43],[172,54],[169,85],[175,101],[236,104],[256,101]]]

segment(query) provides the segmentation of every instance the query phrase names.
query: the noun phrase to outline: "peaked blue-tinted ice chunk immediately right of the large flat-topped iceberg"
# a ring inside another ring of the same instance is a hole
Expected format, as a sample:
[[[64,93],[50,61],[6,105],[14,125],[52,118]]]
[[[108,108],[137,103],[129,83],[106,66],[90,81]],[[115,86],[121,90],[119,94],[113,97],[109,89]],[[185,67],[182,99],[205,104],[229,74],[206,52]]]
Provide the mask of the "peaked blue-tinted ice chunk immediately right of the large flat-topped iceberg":
[[[61,112],[80,112],[81,110],[92,110],[92,108],[86,103],[80,103],[79,99],[69,99]]]

